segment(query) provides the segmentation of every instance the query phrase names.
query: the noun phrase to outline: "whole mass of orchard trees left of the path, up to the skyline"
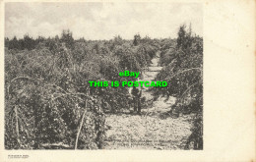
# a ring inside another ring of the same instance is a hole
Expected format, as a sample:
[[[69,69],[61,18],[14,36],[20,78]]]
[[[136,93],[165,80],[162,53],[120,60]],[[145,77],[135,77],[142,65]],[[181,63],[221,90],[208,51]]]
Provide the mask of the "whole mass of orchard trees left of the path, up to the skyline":
[[[89,81],[134,80],[118,73],[143,71],[158,50],[152,39],[139,40],[74,40],[69,30],[60,38],[6,39],[5,147],[102,148],[104,114],[129,108],[131,98],[128,88]]]

